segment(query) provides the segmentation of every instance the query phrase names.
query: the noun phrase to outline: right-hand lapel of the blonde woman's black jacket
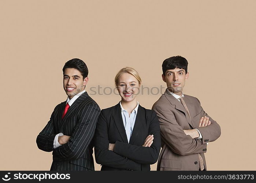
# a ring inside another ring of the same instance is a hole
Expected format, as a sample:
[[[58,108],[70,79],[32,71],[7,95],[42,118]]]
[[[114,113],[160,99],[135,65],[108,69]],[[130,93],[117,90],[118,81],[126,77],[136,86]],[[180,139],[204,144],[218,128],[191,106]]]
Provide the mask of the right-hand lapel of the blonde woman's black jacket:
[[[135,124],[134,124],[134,127],[133,127],[133,132],[131,134],[131,138],[130,138],[130,142],[129,142],[130,144],[133,144],[133,142],[136,140],[139,132],[142,129],[141,127],[142,127],[142,124],[143,124],[144,121],[145,121],[145,111],[139,105],[136,120],[135,120]]]

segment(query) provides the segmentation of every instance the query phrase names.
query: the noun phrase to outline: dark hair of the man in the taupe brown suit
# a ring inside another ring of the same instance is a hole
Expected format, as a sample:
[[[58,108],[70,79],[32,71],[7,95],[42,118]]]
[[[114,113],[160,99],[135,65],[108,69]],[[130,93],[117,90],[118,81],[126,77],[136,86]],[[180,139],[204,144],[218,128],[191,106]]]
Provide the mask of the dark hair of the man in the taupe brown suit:
[[[173,56],[165,59],[162,64],[163,75],[169,69],[180,68],[184,69],[186,74],[188,73],[188,61],[182,56]]]

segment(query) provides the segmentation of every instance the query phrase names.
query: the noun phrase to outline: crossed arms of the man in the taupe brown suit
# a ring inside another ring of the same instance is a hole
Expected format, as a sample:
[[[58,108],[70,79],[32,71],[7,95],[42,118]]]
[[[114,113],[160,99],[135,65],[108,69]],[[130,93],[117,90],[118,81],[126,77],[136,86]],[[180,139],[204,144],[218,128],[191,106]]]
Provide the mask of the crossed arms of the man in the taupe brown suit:
[[[164,141],[164,143],[166,143],[174,153],[179,155],[184,156],[189,154],[205,153],[206,151],[203,149],[206,149],[206,143],[214,141],[220,135],[219,125],[203,111],[203,108],[201,108],[201,116],[207,116],[211,121],[210,125],[208,122],[208,126],[205,126],[205,123],[204,126],[202,126],[204,121],[203,119],[201,127],[198,128],[203,136],[203,141],[202,139],[197,139],[199,137],[199,133],[194,131],[196,129],[188,131],[183,130],[183,128],[179,126],[174,113],[170,109],[164,108],[158,104],[154,105],[152,109],[157,113],[159,118],[162,141]],[[207,118],[205,119],[205,122],[206,120]],[[207,135],[207,133],[209,133],[209,135]],[[206,138],[208,138],[208,141],[204,141]]]

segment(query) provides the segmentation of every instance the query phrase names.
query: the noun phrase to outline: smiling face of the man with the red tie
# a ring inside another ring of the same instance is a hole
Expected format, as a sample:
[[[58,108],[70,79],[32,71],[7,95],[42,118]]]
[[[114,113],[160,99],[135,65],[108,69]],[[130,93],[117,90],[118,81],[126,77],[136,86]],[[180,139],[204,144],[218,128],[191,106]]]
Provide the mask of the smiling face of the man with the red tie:
[[[63,87],[69,99],[85,89],[88,77],[83,79],[81,72],[75,68],[66,68],[63,74]]]

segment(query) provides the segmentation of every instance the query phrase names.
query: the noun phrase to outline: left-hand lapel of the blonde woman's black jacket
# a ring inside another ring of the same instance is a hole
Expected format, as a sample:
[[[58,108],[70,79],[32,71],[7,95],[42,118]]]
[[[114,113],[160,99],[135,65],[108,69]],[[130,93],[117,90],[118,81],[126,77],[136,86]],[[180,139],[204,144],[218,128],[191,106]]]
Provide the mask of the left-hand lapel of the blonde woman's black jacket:
[[[128,143],[125,127],[123,126],[123,119],[122,119],[121,108],[119,103],[112,108],[112,115],[114,118],[114,122],[116,124],[116,128],[118,129],[118,132],[121,138],[123,139],[123,142]]]

